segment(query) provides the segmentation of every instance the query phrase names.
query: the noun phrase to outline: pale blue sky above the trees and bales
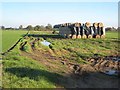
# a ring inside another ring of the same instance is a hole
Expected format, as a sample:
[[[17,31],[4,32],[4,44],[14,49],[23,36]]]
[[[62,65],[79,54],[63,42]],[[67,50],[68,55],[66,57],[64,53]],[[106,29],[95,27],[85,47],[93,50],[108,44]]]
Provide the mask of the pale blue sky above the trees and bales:
[[[103,22],[118,26],[118,2],[2,2],[2,25]]]

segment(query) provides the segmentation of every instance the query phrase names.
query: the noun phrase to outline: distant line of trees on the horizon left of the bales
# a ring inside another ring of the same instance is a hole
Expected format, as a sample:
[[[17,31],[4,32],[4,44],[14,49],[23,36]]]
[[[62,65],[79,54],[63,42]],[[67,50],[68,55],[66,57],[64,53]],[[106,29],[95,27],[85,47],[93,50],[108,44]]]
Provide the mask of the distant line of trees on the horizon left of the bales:
[[[0,28],[2,30],[33,30],[33,31],[50,31],[50,30],[53,30],[51,24],[48,24],[47,26],[36,25],[34,27],[32,25],[28,25],[25,28],[23,28],[22,25],[20,25],[19,28],[13,28],[13,27],[6,28],[5,26],[1,26]]]

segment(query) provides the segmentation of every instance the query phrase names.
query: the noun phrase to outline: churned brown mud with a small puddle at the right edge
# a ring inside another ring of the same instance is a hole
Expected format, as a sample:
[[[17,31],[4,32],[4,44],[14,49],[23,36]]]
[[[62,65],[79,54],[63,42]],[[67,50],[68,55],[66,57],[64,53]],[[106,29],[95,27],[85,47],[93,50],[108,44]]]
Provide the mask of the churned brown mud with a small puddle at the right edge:
[[[120,56],[106,56],[87,60],[98,71],[107,75],[120,75]]]

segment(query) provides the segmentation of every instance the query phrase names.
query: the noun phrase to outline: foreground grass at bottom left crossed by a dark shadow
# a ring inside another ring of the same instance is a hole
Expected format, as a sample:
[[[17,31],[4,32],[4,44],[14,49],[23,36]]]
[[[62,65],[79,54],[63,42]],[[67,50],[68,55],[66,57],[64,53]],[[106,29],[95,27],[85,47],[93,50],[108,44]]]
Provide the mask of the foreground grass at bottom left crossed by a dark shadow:
[[[32,59],[11,52],[3,60],[4,88],[55,88],[56,73]]]

